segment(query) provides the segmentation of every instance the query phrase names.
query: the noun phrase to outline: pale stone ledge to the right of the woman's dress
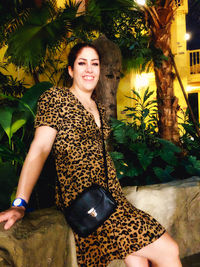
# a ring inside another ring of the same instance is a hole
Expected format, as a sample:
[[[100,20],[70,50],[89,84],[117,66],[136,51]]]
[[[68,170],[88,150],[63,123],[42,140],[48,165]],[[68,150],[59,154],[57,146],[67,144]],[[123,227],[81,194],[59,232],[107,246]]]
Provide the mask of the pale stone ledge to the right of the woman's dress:
[[[155,217],[178,242],[181,257],[200,252],[200,178],[123,189],[137,208]]]

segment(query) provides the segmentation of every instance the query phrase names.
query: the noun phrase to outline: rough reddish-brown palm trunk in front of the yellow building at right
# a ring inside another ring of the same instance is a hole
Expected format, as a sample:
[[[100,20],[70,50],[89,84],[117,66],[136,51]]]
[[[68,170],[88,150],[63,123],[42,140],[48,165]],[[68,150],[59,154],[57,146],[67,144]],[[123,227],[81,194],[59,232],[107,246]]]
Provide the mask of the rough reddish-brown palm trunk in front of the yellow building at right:
[[[154,64],[157,85],[159,133],[161,138],[180,145],[180,135],[177,122],[179,109],[178,98],[174,95],[172,72],[173,64],[170,57],[171,23],[174,18],[174,4],[170,0],[157,3],[157,6],[145,8],[145,15],[151,30],[152,42],[156,48],[163,51],[168,60],[163,60],[158,68]]]

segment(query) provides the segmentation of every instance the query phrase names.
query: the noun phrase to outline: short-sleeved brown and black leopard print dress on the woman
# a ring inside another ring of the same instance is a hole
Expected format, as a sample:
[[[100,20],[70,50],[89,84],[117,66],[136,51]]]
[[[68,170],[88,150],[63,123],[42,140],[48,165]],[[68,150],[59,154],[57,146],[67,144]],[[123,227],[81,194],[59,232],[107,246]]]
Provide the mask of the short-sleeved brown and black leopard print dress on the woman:
[[[98,106],[106,138],[110,129],[104,107],[100,103]],[[54,87],[42,94],[35,119],[35,127],[39,126],[57,130],[53,153],[66,206],[92,183],[106,186],[101,130],[93,115],[71,91]],[[124,259],[165,232],[154,218],[126,200],[108,153],[106,157],[109,189],[118,206],[109,219],[88,237],[74,234],[78,265],[82,267],[103,267],[114,259]],[[56,192],[56,204],[60,207],[58,188]]]

